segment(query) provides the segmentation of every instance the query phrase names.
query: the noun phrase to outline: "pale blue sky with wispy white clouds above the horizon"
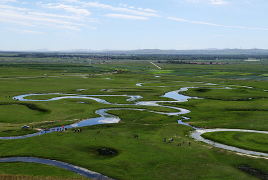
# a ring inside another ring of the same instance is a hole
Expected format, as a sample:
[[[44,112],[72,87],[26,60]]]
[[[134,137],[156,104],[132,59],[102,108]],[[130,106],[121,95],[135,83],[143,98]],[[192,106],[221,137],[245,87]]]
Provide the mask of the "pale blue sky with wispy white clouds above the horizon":
[[[0,0],[0,50],[268,49],[268,0]]]

